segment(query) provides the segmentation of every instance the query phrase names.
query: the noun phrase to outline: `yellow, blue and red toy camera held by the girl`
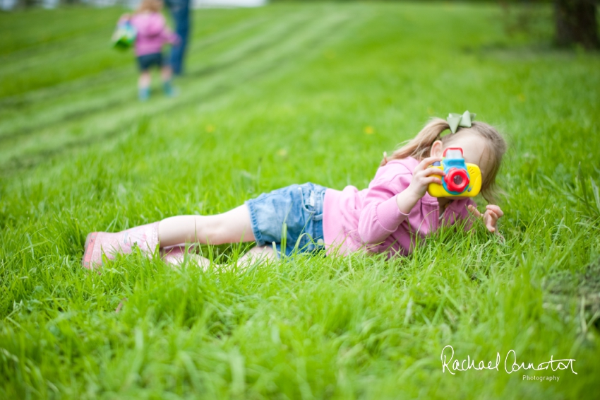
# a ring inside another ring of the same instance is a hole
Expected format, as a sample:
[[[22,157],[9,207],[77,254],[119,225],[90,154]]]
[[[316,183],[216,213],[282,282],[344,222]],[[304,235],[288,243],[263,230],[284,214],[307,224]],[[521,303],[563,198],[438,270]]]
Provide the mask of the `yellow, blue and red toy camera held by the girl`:
[[[481,170],[475,164],[467,164],[462,148],[450,147],[444,151],[444,159],[433,167],[445,172],[442,184],[430,183],[427,192],[433,197],[474,197],[481,190]]]

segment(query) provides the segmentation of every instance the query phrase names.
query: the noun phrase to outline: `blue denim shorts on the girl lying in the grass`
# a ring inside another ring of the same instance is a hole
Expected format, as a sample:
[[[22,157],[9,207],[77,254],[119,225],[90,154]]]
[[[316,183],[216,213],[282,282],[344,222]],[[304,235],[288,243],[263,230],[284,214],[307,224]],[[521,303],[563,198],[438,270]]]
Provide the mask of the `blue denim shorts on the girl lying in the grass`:
[[[256,245],[275,243],[277,253],[284,247],[287,256],[324,249],[325,190],[313,183],[292,184],[246,201]]]

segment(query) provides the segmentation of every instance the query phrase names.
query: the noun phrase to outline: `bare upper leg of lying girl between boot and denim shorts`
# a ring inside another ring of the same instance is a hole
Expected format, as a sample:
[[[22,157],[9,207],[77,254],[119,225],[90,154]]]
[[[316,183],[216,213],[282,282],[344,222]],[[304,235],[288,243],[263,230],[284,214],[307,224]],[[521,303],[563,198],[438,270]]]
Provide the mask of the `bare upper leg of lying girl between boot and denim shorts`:
[[[186,242],[205,245],[252,242],[254,234],[246,204],[214,216],[176,216],[158,225],[160,247]]]

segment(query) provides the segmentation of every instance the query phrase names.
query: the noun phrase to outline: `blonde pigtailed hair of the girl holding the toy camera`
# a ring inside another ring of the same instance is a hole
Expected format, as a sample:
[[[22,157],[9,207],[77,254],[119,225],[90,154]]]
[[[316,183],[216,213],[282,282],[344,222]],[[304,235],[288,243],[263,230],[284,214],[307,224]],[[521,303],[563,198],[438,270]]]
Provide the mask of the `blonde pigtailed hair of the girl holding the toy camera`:
[[[490,163],[490,169],[486,171],[486,175],[482,177],[481,182],[481,194],[484,199],[489,203],[496,201],[498,195],[498,188],[496,187],[496,175],[500,170],[500,164],[502,163],[502,156],[506,152],[506,141],[496,129],[486,124],[485,122],[472,122],[470,128],[458,128],[455,134],[448,134],[441,136],[443,131],[450,129],[450,125],[445,119],[434,118],[425,125],[423,129],[417,134],[414,139],[403,143],[402,147],[397,149],[389,157],[385,155],[381,161],[381,165],[388,163],[388,160],[400,160],[402,158],[414,157],[417,160],[423,160],[429,157],[431,152],[431,146],[436,140],[440,140],[444,147],[447,147],[452,141],[454,141],[458,134],[461,132],[472,132],[478,134],[483,139],[486,139],[487,143],[487,155]]]

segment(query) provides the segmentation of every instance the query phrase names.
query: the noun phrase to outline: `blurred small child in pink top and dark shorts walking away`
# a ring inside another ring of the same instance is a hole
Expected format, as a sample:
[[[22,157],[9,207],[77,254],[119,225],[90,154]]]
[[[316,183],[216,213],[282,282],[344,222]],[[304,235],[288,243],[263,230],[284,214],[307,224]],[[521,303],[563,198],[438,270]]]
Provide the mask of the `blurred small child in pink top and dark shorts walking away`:
[[[171,82],[172,69],[162,57],[162,47],[166,43],[176,44],[179,42],[179,37],[169,29],[164,16],[160,13],[161,10],[161,0],[142,0],[133,16],[125,14],[119,20],[119,23],[129,20],[136,29],[136,57],[140,68],[138,96],[141,101],[148,100],[150,97],[152,66],[160,68],[164,94],[175,95]]]

